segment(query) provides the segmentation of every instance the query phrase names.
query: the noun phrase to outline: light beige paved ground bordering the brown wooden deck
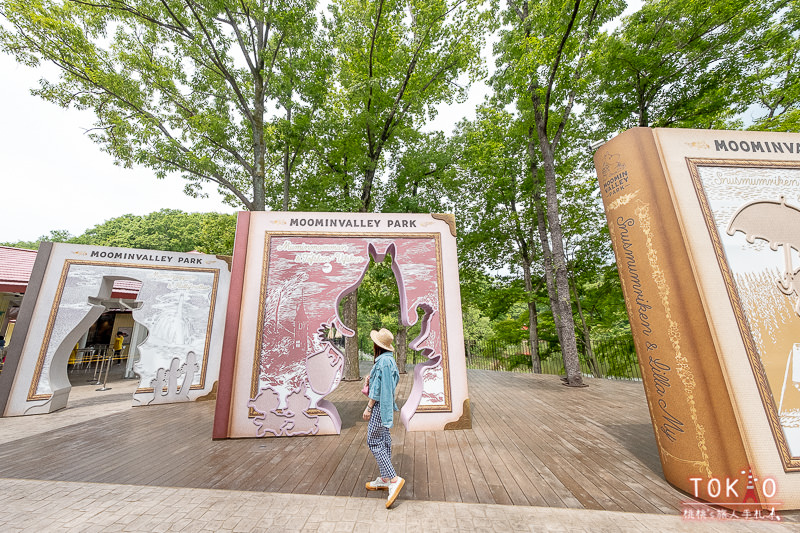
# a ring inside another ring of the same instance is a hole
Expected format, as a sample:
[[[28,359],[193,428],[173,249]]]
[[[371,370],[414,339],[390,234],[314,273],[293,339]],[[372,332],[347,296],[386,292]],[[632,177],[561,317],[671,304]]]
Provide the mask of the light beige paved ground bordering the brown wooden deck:
[[[70,408],[0,419],[0,446],[130,408],[133,381],[73,389]],[[793,531],[774,520],[0,478],[0,531]],[[711,512],[709,510],[709,512]]]

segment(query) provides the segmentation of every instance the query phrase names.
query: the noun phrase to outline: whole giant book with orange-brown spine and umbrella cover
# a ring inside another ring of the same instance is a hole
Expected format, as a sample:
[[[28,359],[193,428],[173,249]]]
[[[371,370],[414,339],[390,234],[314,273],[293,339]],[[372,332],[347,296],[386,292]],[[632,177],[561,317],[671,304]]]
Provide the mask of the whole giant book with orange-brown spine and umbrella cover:
[[[636,128],[595,166],[666,479],[800,508],[800,135]]]

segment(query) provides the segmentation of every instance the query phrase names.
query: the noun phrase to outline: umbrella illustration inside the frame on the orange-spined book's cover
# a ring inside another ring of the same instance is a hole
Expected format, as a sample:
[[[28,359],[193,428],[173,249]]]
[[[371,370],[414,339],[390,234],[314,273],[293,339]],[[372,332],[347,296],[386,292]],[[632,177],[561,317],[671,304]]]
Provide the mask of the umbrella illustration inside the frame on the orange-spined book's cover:
[[[800,165],[694,163],[763,408],[784,468],[800,468]]]

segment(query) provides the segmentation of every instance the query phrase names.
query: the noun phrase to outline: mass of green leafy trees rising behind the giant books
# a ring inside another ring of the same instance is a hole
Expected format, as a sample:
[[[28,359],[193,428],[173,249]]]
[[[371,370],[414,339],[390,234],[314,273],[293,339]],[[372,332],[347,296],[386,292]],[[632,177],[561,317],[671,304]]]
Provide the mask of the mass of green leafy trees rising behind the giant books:
[[[625,7],[0,0],[0,48],[59,67],[36,94],[93,111],[101,149],[189,194],[211,182],[249,210],[455,212],[467,336],[526,340],[534,365],[553,340],[580,384],[578,344],[629,335],[590,145],[633,126],[800,131],[798,0]],[[476,79],[489,85],[474,116],[433,130]],[[227,254],[234,223],[165,209],[42,239]],[[374,265],[353,320],[394,324],[392,283]]]

